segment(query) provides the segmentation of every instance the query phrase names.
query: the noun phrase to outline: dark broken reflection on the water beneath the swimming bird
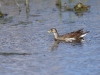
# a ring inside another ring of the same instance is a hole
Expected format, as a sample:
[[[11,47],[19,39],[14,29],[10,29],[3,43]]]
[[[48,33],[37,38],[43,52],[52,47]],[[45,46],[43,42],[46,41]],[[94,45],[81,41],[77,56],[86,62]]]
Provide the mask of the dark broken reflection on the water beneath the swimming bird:
[[[65,44],[71,44],[72,46],[82,46],[82,42],[85,41],[83,38],[75,40],[73,42],[65,42],[65,41],[59,41],[59,40],[55,40],[53,45],[51,46],[50,51],[54,51],[58,48],[60,43],[65,43]]]

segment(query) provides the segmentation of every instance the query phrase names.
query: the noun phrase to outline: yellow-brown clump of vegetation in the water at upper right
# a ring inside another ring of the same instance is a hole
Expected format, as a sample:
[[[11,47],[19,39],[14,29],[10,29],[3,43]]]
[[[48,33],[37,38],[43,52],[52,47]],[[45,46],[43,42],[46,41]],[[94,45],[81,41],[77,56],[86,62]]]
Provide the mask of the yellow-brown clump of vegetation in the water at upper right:
[[[60,9],[64,9],[65,11],[73,11],[73,12],[86,12],[89,10],[90,6],[89,5],[84,5],[81,2],[78,2],[76,5],[74,5],[72,8],[67,5],[67,3],[64,3],[64,6],[62,6],[61,0],[56,1],[56,6],[60,7]]]

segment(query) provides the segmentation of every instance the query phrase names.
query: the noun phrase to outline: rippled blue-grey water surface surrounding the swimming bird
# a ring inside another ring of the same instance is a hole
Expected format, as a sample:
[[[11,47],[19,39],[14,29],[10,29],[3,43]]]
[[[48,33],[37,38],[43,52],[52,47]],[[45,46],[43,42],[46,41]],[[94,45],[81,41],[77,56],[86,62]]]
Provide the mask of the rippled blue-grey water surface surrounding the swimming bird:
[[[67,2],[75,5],[79,0]],[[100,74],[100,1],[81,0],[90,12],[77,16],[60,10],[56,0],[30,0],[26,13],[24,0],[0,0],[0,75],[99,75]],[[56,28],[64,34],[84,28],[90,31],[82,43],[54,42]]]

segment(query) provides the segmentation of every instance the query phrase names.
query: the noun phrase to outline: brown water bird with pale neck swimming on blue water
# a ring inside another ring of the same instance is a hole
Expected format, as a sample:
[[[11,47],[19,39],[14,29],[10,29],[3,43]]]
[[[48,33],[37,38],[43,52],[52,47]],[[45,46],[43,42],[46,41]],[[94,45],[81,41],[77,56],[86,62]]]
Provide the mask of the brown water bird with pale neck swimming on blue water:
[[[83,29],[79,29],[77,31],[59,35],[56,28],[51,28],[50,30],[48,30],[48,33],[51,33],[51,32],[54,34],[55,40],[60,40],[60,41],[65,41],[65,42],[74,42],[79,39],[83,39],[83,37],[87,33],[89,33],[89,31],[84,32]]]

